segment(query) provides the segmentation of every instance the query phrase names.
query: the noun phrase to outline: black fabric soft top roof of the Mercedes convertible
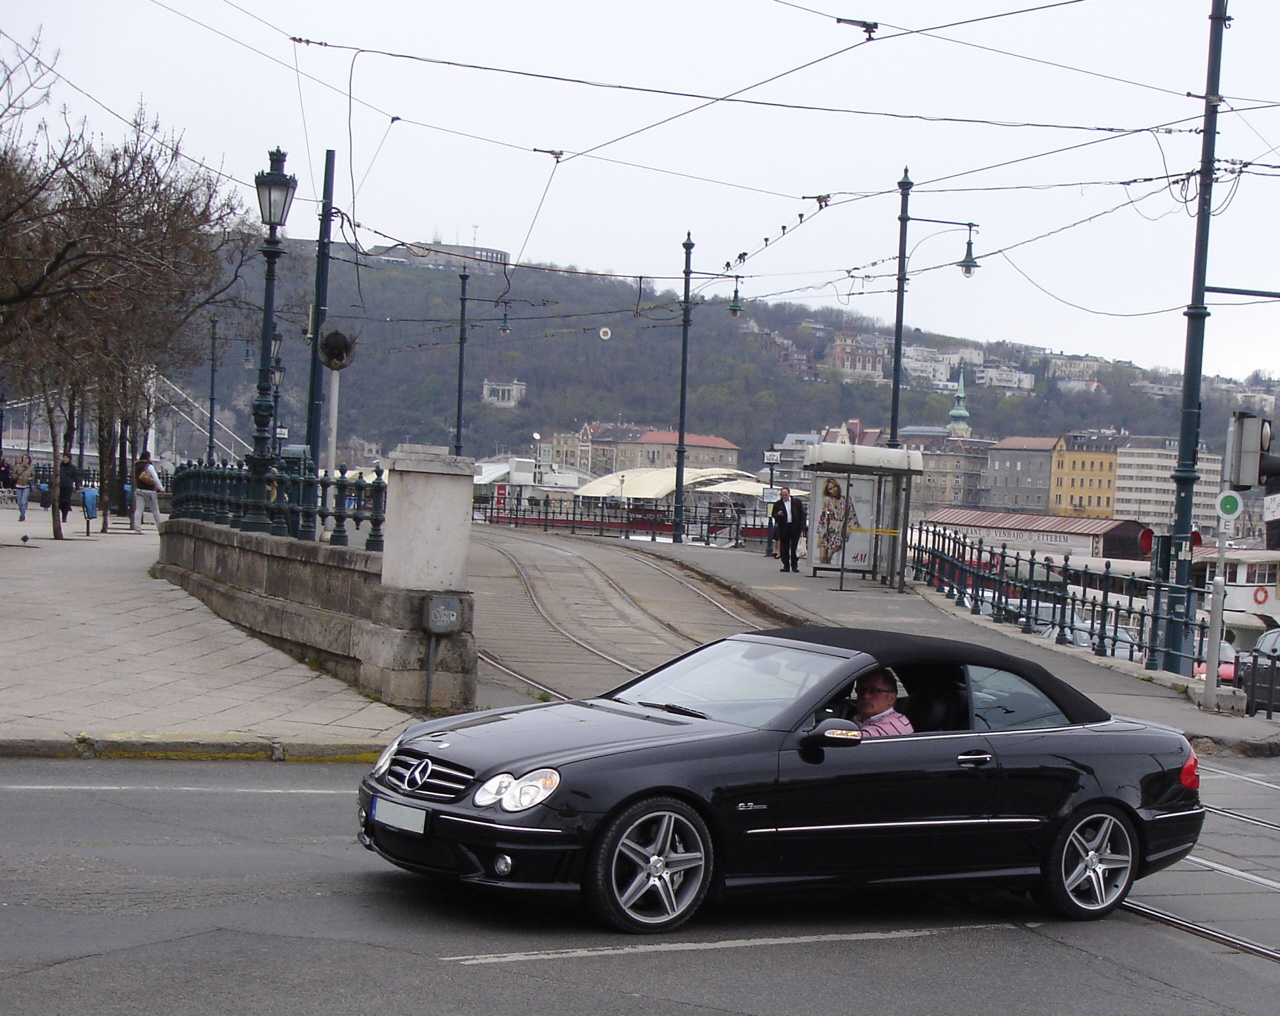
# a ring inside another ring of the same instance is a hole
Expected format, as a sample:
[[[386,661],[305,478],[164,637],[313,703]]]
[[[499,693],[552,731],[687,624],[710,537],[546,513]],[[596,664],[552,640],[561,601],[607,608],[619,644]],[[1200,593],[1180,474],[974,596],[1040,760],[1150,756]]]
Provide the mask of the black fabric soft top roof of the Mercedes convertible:
[[[934,639],[910,632],[881,631],[878,628],[772,628],[754,632],[769,639],[788,639],[796,642],[832,646],[851,653],[865,653],[882,667],[904,667],[909,663],[936,662],[941,664],[970,664],[1009,671],[1027,678],[1043,691],[1062,710],[1071,723],[1101,723],[1111,719],[1101,705],[1076,691],[1061,678],[1053,677],[1038,663],[1011,656],[998,649],[957,642],[952,639]]]

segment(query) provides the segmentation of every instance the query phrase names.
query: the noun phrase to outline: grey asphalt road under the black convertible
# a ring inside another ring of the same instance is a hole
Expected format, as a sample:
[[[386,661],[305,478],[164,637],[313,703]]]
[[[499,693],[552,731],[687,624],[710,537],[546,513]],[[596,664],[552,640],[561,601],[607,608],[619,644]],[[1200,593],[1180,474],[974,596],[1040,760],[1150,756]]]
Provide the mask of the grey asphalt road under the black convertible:
[[[1276,760],[1213,764],[1280,784]],[[1275,1011],[1274,962],[1124,912],[1047,920],[1001,893],[740,898],[669,935],[604,932],[571,902],[477,894],[367,853],[360,772],[0,761],[0,1012]],[[1219,782],[1215,801],[1242,811],[1267,790]],[[1280,893],[1266,898],[1253,932],[1276,946]]]

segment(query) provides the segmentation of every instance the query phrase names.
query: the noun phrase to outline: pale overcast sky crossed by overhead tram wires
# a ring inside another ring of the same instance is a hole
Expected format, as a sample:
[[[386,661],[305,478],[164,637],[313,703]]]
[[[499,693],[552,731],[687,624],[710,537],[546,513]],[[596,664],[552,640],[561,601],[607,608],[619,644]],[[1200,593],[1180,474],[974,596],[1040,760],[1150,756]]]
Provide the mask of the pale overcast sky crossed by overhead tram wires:
[[[909,166],[911,215],[977,223],[982,269],[937,267],[963,256],[965,230],[913,223],[908,328],[1181,370],[1210,10],[0,0],[0,31],[6,55],[41,36],[73,119],[115,139],[143,102],[250,206],[268,150],[288,151],[293,237],[315,237],[334,148],[337,201],[365,244],[475,242],[675,288],[689,232],[695,270],[731,262],[744,298],[891,324]],[[1208,282],[1280,289],[1280,3],[1230,0],[1229,14]],[[879,27],[868,41],[836,18]],[[701,288],[727,298],[733,280]],[[1212,306],[1206,372],[1280,372],[1280,305],[1224,302],[1236,306]]]

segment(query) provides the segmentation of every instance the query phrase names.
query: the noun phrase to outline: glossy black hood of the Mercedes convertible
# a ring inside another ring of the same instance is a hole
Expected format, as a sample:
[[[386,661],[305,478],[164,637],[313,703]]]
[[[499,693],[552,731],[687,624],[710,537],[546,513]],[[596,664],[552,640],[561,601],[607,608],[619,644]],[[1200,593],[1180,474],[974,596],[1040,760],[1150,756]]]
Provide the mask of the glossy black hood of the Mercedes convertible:
[[[748,728],[607,699],[495,709],[410,727],[403,742],[483,775],[521,764],[580,759],[741,734]],[[517,773],[520,775],[520,773]]]

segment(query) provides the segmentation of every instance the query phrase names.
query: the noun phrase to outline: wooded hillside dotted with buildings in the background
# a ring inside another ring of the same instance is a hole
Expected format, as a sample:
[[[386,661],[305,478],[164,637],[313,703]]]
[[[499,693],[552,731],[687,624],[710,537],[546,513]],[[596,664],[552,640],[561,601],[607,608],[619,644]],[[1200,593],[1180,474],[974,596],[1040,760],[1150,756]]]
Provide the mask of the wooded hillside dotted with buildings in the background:
[[[303,433],[308,348],[300,338],[310,303],[314,247],[291,244],[276,297],[287,366],[282,421],[293,438]],[[250,279],[246,292],[261,284]],[[458,361],[457,271],[408,265],[353,264],[335,258],[325,330],[358,340],[356,360],[342,374],[339,433],[381,450],[402,441],[453,444]],[[477,458],[526,452],[532,434],[575,430],[594,420],[675,429],[678,415],[681,311],[671,289],[648,282],[576,274],[573,269],[471,273],[467,290],[463,453]],[[506,310],[509,331],[502,331]],[[250,316],[251,317],[251,316]],[[817,322],[826,328],[813,328]],[[754,322],[758,330],[744,328]],[[251,329],[251,324],[243,326]],[[609,338],[600,338],[600,329]],[[745,305],[733,319],[723,299],[692,308],[689,343],[687,429],[737,444],[746,468],[788,433],[820,430],[850,417],[887,426],[890,390],[873,383],[840,384],[824,370],[831,330],[879,331],[883,322],[840,311],[787,303]],[[814,358],[819,380],[787,376],[771,333]],[[1029,342],[1034,338],[1029,337]],[[909,342],[940,349],[980,345],[973,339],[911,331]],[[251,339],[256,361],[256,337]],[[1053,436],[1083,427],[1120,427],[1134,434],[1176,435],[1175,399],[1153,399],[1130,384],[1146,372],[1110,365],[1098,380],[1105,392],[1064,393],[1046,381],[1033,360],[1018,351],[983,347],[987,356],[1010,353],[1010,366],[1036,372],[1033,395],[1001,397],[968,379],[970,424],[978,436]],[[238,347],[237,347],[238,351]],[[238,358],[238,352],[230,358]],[[1041,367],[1043,365],[1039,365]],[[200,370],[192,375],[198,390]],[[481,402],[481,385],[520,380],[526,401],[515,409]],[[219,399],[247,406],[252,371],[223,371]],[[902,393],[901,424],[945,425],[952,398],[922,390]],[[1206,392],[1202,433],[1221,449],[1234,401]]]

